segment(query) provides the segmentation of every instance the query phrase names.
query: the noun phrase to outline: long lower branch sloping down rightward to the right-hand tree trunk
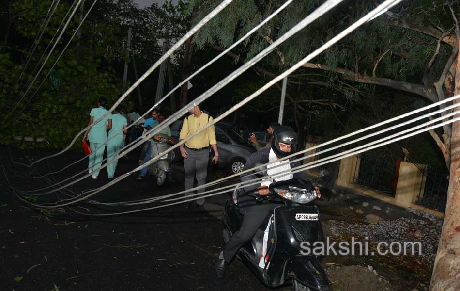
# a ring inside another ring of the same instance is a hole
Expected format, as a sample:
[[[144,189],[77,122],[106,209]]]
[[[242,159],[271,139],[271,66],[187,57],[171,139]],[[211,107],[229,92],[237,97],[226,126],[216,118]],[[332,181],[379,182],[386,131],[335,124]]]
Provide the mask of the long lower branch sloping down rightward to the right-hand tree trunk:
[[[303,65],[306,68],[311,69],[320,69],[324,71],[332,71],[343,75],[343,78],[350,81],[356,81],[359,83],[366,83],[366,84],[375,84],[375,85],[382,85],[385,87],[393,88],[396,90],[401,90],[409,93],[415,93],[422,97],[427,98],[431,102],[437,102],[436,94],[433,92],[434,88],[425,87],[419,84],[408,83],[404,81],[397,81],[387,78],[376,78],[376,77],[368,77],[361,74],[356,74],[353,71],[344,69],[344,68],[332,68],[327,65],[322,64],[312,64],[312,63],[305,63]]]

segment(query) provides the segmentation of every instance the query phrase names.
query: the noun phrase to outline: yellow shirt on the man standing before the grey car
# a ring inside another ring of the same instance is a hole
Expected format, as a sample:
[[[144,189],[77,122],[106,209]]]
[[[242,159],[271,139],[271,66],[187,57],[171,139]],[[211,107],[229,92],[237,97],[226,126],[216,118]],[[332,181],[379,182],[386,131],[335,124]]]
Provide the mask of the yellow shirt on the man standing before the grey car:
[[[198,118],[195,117],[195,115],[190,115],[187,118],[185,118],[184,123],[182,124],[181,135],[179,139],[183,140],[197,132],[199,129],[202,129],[205,126],[207,126],[208,117],[209,122],[213,122],[213,117],[209,116],[206,113],[201,113],[201,115],[199,115]],[[185,146],[189,148],[203,148],[215,144],[217,144],[217,142],[215,141],[214,125],[210,126],[208,129],[204,131],[201,131],[199,134],[185,142]]]

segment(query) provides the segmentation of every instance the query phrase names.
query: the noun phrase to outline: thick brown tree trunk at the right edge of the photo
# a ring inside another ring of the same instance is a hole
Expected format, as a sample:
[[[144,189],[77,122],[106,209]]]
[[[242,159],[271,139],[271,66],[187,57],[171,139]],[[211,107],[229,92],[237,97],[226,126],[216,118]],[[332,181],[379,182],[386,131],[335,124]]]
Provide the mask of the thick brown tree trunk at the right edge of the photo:
[[[459,39],[460,41],[460,39]],[[460,94],[460,53],[457,55],[455,92]],[[460,101],[454,101],[460,105]],[[458,117],[459,114],[456,115]],[[460,122],[452,125],[450,180],[443,231],[434,261],[430,291],[460,290]]]

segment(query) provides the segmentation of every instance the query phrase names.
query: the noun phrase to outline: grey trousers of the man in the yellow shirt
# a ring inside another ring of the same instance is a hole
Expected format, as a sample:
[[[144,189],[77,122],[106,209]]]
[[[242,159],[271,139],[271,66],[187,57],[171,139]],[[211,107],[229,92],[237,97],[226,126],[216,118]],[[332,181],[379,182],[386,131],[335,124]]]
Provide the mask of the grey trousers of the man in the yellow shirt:
[[[185,147],[185,150],[188,153],[188,158],[184,159],[185,190],[189,190],[193,188],[193,181],[195,176],[197,177],[198,186],[206,184],[206,176],[208,175],[209,151],[207,149],[193,151],[187,147]],[[198,193],[204,191],[204,188],[197,190]],[[191,194],[193,194],[193,192],[185,193],[185,195]],[[196,201],[199,205],[204,204],[204,198],[200,198]]]

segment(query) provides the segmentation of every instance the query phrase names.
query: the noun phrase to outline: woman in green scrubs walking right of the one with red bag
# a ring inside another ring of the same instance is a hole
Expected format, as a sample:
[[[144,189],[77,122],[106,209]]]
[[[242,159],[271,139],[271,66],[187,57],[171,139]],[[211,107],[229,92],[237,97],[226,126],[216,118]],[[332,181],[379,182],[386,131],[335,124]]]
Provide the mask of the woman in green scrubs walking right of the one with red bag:
[[[118,157],[120,150],[124,146],[124,139],[126,138],[126,127],[128,126],[128,120],[121,114],[121,106],[117,106],[112,114],[112,128],[108,132],[108,141],[107,141],[107,162]],[[122,131],[123,132],[120,132]],[[108,178],[112,179],[115,174],[115,169],[117,168],[118,160],[115,160],[112,163],[107,165]]]

